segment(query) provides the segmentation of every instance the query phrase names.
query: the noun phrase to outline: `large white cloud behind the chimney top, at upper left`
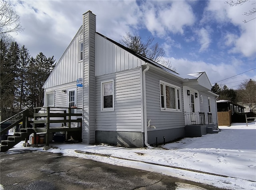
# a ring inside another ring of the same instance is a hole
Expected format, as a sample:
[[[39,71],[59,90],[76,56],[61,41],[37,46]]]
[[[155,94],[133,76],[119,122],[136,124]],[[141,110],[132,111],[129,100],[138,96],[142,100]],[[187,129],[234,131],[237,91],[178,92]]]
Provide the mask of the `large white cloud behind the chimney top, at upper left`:
[[[25,28],[14,39],[32,56],[43,52],[60,58],[82,26],[82,14],[96,14],[96,30],[113,40],[140,25],[141,12],[135,1],[11,1]]]

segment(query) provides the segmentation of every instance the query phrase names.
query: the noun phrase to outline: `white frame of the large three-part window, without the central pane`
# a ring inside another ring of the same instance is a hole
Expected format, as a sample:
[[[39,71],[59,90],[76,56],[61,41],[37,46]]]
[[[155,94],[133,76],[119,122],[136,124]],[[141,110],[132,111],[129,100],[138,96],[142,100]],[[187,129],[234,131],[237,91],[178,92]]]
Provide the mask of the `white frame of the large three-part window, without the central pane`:
[[[162,99],[161,99],[161,85],[163,85],[163,96],[164,96],[164,108],[162,108]],[[171,88],[175,89],[175,103],[176,103],[176,109],[174,108],[166,108],[166,86],[169,86]],[[160,110],[161,111],[169,111],[169,112],[181,112],[181,90],[179,86],[176,86],[174,84],[170,84],[168,82],[164,82],[160,80],[159,83],[159,92],[160,92]],[[179,93],[179,96],[178,96]],[[178,98],[179,97],[179,98]],[[178,104],[178,100],[180,101],[180,104]],[[180,105],[180,109],[178,108],[178,105]]]

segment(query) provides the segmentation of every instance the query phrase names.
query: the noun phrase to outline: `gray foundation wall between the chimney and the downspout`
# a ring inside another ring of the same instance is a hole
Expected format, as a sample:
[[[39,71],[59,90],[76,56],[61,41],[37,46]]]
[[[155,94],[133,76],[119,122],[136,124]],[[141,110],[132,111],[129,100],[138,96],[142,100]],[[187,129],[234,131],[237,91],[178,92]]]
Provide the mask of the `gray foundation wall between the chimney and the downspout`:
[[[126,147],[143,147],[144,134],[142,132],[96,130],[96,143],[107,143]]]

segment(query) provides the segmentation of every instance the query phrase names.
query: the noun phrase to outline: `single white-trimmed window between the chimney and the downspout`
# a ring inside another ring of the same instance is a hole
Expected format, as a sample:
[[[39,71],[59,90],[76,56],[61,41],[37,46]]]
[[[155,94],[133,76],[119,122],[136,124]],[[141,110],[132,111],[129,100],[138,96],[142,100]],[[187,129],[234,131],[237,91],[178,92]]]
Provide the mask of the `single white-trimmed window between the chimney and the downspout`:
[[[101,82],[101,110],[114,110],[114,80]]]

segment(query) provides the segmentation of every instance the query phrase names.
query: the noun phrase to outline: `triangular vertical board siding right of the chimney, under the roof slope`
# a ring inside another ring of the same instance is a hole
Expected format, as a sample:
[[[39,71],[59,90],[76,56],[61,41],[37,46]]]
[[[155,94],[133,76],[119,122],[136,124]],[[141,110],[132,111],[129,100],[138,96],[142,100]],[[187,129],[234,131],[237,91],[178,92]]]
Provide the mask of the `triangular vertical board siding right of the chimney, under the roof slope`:
[[[106,38],[95,34],[95,75],[101,76],[145,64],[136,56],[116,46]]]

